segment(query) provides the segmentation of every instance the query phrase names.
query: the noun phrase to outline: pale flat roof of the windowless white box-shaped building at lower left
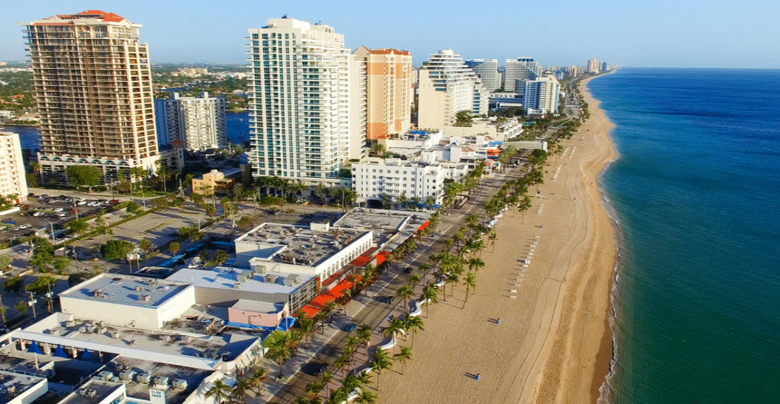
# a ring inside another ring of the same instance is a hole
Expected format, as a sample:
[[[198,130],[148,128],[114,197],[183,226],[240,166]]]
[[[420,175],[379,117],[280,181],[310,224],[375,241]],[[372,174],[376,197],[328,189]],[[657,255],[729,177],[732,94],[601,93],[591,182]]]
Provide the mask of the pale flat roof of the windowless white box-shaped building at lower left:
[[[65,292],[60,297],[102,300],[130,306],[158,307],[189,285],[134,276],[101,274]]]

